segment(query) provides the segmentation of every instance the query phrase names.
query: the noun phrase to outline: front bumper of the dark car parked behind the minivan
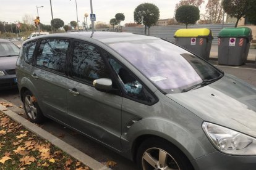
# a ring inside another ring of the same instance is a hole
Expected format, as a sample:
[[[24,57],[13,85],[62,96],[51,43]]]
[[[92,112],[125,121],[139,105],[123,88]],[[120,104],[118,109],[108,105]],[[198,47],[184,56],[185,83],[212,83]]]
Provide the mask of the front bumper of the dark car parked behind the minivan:
[[[0,90],[17,88],[16,75],[0,76]]]

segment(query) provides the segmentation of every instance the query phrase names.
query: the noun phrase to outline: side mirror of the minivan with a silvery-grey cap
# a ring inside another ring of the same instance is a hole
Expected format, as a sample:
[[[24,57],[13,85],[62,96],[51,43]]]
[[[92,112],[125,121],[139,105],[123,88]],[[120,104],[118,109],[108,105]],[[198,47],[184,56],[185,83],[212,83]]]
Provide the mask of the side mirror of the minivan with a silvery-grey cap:
[[[100,78],[93,81],[93,87],[98,91],[112,91],[112,80],[109,78]]]

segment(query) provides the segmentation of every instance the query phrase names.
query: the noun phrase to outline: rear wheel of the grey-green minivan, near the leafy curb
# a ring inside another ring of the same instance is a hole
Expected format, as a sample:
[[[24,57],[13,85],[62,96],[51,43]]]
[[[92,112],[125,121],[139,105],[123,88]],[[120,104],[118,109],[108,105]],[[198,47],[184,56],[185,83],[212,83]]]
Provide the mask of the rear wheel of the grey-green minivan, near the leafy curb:
[[[45,121],[45,116],[41,112],[36,102],[35,95],[33,95],[32,92],[25,91],[23,93],[22,102],[25,113],[32,123],[43,123],[43,121]]]

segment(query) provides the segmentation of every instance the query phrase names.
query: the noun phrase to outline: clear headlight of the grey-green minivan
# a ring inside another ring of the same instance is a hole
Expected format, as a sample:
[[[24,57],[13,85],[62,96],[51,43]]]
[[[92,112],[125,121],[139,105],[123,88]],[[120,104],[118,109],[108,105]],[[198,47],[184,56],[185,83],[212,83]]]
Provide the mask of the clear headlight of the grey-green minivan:
[[[256,139],[216,124],[204,122],[203,131],[220,152],[230,155],[256,155]]]

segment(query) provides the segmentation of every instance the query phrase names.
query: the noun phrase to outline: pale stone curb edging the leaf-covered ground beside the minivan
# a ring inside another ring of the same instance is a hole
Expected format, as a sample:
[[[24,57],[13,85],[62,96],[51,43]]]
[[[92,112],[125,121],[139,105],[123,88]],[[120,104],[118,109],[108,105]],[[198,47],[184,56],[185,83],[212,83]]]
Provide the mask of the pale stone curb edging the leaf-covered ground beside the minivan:
[[[0,98],[1,101],[7,102],[6,100]],[[8,109],[8,110],[6,110]],[[40,127],[36,126],[35,124],[31,123],[27,119],[23,118],[22,116],[18,115],[17,113],[14,113],[14,111],[9,110],[9,108],[6,108],[2,105],[0,105],[0,110],[4,112],[7,116],[9,116],[11,119],[16,121],[17,123],[22,124],[26,129],[29,131],[37,134],[42,139],[48,140],[51,142],[51,144],[55,145],[56,147],[61,148],[64,152],[69,154],[70,156],[74,157],[76,160],[79,160],[81,163],[85,164],[86,166],[92,168],[92,169],[99,169],[99,170],[105,170],[109,169],[104,164],[99,163],[98,161],[94,160],[90,156],[86,155],[83,152],[80,152],[77,148],[72,147],[71,145],[67,144],[66,142],[62,141],[56,136],[53,136],[49,132],[41,129]],[[3,111],[6,110],[6,111]]]

